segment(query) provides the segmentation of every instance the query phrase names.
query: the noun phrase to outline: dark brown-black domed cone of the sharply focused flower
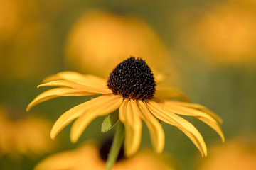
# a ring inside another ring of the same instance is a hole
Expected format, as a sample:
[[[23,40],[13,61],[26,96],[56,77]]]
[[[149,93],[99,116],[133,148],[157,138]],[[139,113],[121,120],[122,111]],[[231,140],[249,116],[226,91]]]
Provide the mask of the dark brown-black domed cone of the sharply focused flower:
[[[107,86],[114,95],[146,100],[154,96],[156,84],[153,73],[144,60],[130,57],[110,73]]]

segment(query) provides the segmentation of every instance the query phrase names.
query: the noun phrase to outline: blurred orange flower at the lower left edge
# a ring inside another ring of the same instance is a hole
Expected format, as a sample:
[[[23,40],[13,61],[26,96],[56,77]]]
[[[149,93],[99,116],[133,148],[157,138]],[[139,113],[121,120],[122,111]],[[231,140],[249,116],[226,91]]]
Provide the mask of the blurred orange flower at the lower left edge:
[[[0,106],[0,156],[34,156],[53,149],[48,120],[12,112]]]

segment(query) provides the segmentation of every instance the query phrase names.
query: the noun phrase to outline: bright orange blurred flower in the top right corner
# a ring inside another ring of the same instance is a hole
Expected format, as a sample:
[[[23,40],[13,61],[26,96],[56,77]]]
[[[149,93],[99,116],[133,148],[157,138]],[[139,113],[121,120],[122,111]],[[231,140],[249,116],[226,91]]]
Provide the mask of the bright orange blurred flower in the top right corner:
[[[202,13],[188,31],[188,50],[207,62],[255,63],[255,2],[228,1]]]

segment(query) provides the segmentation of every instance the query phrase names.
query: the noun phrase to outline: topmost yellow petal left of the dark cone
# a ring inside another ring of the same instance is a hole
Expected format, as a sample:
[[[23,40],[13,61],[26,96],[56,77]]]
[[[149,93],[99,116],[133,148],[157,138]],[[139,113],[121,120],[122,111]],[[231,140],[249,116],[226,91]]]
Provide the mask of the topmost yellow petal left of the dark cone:
[[[85,86],[105,86],[106,80],[100,77],[95,77],[91,74],[80,74],[78,72],[59,72],[43,79],[44,83],[55,80],[68,80]]]

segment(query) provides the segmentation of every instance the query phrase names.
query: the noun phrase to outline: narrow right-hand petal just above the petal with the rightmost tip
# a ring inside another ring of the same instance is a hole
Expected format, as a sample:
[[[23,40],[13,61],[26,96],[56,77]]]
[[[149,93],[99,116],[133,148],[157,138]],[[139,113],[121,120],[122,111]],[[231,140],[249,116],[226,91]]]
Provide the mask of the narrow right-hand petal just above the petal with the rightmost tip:
[[[203,111],[204,113],[207,113],[211,117],[215,118],[215,120],[217,120],[218,123],[223,123],[222,118],[220,118],[218,115],[213,113],[213,111],[210,111],[205,106],[201,106],[200,104],[196,104],[196,103],[186,103],[186,102],[178,102],[178,101],[171,101],[171,102],[173,102],[173,103],[175,103],[176,105],[179,105],[179,106],[185,106],[185,107],[188,107],[188,108],[194,108],[194,109],[197,109],[199,111]]]

